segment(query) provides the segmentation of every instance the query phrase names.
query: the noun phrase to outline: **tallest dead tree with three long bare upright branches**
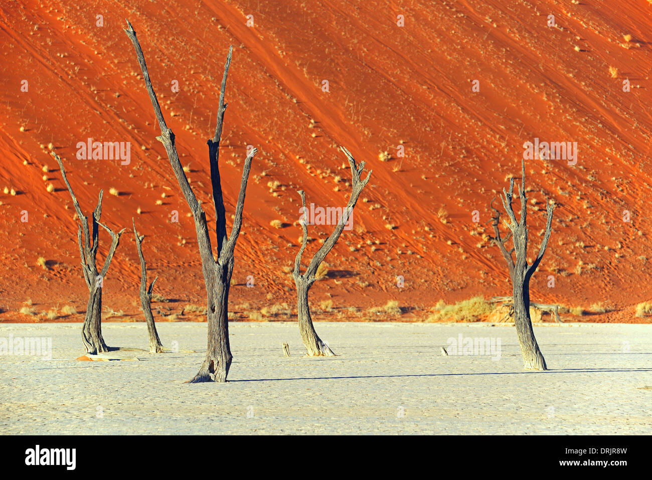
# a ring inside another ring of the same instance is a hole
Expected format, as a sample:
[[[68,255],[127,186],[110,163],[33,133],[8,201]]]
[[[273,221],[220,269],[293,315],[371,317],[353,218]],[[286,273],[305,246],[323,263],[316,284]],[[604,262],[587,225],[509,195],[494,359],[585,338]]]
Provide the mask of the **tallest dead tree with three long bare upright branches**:
[[[209,163],[211,165],[211,184],[213,188],[213,203],[215,204],[215,230],[217,233],[217,248],[213,256],[213,247],[211,247],[211,237],[206,224],[206,214],[201,208],[201,203],[197,200],[190,183],[183,172],[183,167],[179,161],[177,147],[175,146],[175,136],[168,125],[165,123],[163,113],[161,112],[156,93],[149,79],[147,65],[143,50],[140,48],[136,32],[131,23],[127,21],[128,29],[125,29],[126,35],[131,39],[136,50],[136,57],[143,73],[145,88],[154,108],[154,113],[160,127],[161,134],[156,140],[163,143],[172,170],[177,177],[181,192],[190,207],[190,212],[195,222],[197,233],[197,243],[200,250],[201,270],[204,277],[207,295],[207,317],[208,317],[208,348],[206,357],[201,364],[198,374],[189,380],[190,383],[197,382],[226,382],[226,377],[231,366],[231,348],[229,345],[229,323],[228,323],[228,299],[231,275],[233,274],[233,252],[237,242],[243,219],[244,194],[246,192],[246,183],[251,170],[251,160],[256,155],[257,149],[252,149],[244,160],[242,181],[240,184],[240,194],[235,207],[235,217],[233,218],[233,227],[231,235],[226,234],[226,210],[224,209],[224,200],[222,198],[222,185],[220,183],[220,170],[218,168],[218,158],[220,153],[220,138],[222,136],[222,122],[224,121],[224,111],[227,104],[224,103],[224,89],[226,89],[226,77],[231,64],[231,53],[233,47],[229,48],[229,54],[224,64],[224,76],[222,77],[222,87],[220,89],[220,100],[217,111],[217,125],[215,135],[208,140]]]

